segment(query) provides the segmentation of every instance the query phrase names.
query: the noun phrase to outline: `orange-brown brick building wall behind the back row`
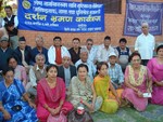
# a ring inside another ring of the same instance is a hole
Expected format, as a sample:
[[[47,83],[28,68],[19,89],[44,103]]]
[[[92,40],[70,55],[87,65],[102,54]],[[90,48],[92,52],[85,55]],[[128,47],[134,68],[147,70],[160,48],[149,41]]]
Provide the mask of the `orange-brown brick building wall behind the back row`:
[[[82,0],[74,0],[80,2]],[[139,0],[146,2],[163,2],[162,0]],[[105,31],[104,32],[86,32],[86,33],[75,33],[75,32],[45,32],[45,31],[27,31],[20,30],[20,36],[25,36],[27,44],[35,46],[35,37],[36,35],[42,35],[45,38],[45,46],[49,48],[53,43],[53,38],[60,36],[62,38],[63,45],[72,46],[72,39],[79,38],[82,45],[85,44],[86,39],[92,38],[95,44],[100,44],[103,42],[105,36],[111,36],[112,45],[118,45],[118,40],[121,38],[126,38],[128,43],[127,45],[134,46],[136,37],[123,36],[123,28],[125,22],[125,12],[126,10],[126,0],[122,0],[122,14],[105,14]],[[155,36],[156,42],[163,42],[163,33],[161,36]]]

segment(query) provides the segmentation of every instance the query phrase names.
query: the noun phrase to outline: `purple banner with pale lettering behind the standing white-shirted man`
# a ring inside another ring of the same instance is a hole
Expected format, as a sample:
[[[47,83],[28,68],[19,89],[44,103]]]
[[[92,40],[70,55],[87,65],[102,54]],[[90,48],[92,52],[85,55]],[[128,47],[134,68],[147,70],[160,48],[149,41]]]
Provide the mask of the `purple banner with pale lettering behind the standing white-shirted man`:
[[[125,36],[138,36],[141,33],[141,23],[149,24],[152,35],[162,33],[162,9],[163,3],[134,2],[127,0],[126,19],[124,27]]]

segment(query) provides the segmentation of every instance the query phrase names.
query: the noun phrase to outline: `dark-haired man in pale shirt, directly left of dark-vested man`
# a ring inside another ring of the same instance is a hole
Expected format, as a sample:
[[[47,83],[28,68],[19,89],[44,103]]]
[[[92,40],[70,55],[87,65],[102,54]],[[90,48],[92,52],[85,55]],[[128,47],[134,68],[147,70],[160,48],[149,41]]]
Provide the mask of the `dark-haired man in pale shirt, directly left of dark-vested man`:
[[[115,52],[111,46],[111,37],[106,36],[104,38],[103,44],[99,45],[97,52],[98,62],[108,62],[111,52]]]

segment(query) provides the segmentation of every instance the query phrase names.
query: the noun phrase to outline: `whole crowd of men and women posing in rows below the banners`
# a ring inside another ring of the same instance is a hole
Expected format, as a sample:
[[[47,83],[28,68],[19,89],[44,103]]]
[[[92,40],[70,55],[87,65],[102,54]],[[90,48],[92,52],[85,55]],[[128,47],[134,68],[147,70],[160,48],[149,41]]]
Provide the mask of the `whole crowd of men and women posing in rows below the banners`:
[[[113,48],[109,36],[98,46],[92,39],[80,46],[79,38],[74,38],[70,50],[61,37],[53,38],[49,50],[41,36],[36,36],[33,49],[20,37],[12,48],[10,32],[0,30],[0,121],[46,122],[49,116],[67,116],[79,105],[89,112],[106,113],[124,105],[138,111],[146,110],[149,101],[163,105],[163,45],[153,57],[154,37],[148,23],[141,27],[134,53],[125,38]]]

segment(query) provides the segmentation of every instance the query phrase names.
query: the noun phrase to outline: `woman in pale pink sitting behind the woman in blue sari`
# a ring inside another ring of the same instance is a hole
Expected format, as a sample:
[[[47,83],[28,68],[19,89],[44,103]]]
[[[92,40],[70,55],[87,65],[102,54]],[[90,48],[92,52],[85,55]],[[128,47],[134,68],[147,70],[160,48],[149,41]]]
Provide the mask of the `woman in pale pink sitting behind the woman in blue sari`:
[[[14,78],[21,80],[25,86],[27,83],[25,67],[17,65],[17,59],[14,56],[8,58],[8,65],[14,69]]]

